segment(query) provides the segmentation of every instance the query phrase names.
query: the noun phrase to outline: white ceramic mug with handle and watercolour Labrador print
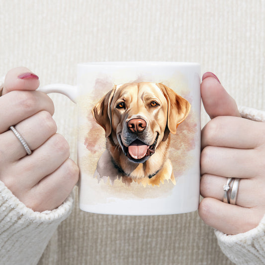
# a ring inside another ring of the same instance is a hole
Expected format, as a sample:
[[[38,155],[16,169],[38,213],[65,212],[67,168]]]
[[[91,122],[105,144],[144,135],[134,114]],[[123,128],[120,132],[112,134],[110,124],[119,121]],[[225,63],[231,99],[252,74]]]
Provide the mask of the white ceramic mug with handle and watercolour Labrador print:
[[[80,209],[119,215],[195,211],[200,181],[200,65],[96,62],[77,86],[38,90],[78,105]]]

